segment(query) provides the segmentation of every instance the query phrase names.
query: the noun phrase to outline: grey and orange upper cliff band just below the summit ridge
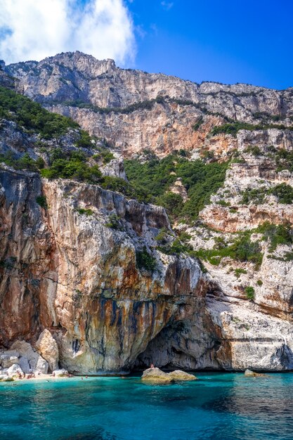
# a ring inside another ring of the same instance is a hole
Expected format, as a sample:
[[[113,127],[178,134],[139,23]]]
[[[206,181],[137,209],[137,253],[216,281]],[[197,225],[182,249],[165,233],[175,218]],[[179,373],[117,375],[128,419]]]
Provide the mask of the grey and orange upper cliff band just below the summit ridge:
[[[235,141],[209,138],[215,125],[229,120],[292,124],[293,89],[195,84],[123,70],[113,60],[99,61],[80,52],[8,65],[5,70],[18,78],[19,91],[107,138],[125,157],[145,149],[163,157],[181,148],[195,153],[213,150],[226,157]]]

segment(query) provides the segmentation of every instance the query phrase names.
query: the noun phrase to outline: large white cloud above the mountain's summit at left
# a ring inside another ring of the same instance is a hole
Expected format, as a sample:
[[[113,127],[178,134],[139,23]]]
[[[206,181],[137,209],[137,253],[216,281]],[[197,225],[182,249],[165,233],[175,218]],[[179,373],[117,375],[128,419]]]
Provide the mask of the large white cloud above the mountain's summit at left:
[[[0,59],[41,60],[65,51],[133,61],[134,26],[123,0],[0,0]]]

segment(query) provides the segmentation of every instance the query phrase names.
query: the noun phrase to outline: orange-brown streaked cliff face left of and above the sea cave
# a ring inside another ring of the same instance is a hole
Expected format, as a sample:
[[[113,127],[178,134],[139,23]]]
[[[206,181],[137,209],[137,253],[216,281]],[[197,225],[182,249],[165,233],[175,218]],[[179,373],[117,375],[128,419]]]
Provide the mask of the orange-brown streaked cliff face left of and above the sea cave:
[[[129,370],[169,325],[194,321],[204,280],[196,261],[153,251],[164,209],[98,186],[1,171],[1,344],[34,343],[44,328],[72,372]],[[46,197],[47,209],[36,196]],[[80,214],[82,207],[92,214]],[[119,216],[119,231],[108,226]]]

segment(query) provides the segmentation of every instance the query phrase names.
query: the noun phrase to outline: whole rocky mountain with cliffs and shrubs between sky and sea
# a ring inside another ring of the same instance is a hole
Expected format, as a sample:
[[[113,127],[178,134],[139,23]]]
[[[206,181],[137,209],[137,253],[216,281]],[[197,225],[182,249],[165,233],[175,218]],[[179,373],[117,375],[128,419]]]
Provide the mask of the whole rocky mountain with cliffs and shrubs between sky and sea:
[[[293,369],[293,89],[79,52],[0,73],[3,348],[46,356],[48,331],[73,373]]]

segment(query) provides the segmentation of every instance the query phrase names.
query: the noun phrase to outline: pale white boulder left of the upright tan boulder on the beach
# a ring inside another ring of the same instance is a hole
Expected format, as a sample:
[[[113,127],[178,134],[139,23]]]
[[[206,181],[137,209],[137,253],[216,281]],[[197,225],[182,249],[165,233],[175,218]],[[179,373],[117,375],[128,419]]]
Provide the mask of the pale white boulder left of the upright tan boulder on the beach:
[[[18,351],[20,354],[20,367],[24,373],[30,373],[30,370],[34,373],[48,373],[48,362],[45,361],[28,342],[15,341],[11,349]]]

